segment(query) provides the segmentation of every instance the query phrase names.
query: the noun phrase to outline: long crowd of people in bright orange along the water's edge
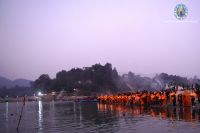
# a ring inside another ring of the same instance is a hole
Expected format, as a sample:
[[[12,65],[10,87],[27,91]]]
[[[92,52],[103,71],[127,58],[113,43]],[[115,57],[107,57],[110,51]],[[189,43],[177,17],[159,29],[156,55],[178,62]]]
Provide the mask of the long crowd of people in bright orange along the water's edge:
[[[122,93],[99,96],[100,103],[147,106],[195,106],[200,103],[200,95],[194,90],[163,90]]]

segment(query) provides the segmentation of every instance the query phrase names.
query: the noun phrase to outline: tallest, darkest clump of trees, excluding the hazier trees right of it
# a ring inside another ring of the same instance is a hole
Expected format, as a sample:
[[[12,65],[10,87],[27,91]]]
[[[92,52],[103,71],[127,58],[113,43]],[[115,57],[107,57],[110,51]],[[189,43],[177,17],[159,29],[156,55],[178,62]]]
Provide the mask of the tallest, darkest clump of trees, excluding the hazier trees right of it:
[[[42,74],[32,87],[43,92],[61,91],[68,93],[77,91],[80,95],[96,93],[113,93],[118,91],[119,75],[110,63],[104,66],[95,64],[91,67],[62,70],[51,79],[48,74]]]

